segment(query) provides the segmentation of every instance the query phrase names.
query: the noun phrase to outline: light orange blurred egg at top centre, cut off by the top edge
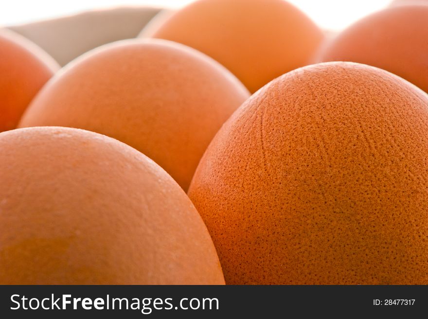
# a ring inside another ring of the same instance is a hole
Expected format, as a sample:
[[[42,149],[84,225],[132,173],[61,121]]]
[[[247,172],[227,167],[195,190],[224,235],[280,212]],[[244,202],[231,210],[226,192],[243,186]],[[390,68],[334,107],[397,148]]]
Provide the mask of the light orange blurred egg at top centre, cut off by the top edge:
[[[323,37],[284,0],[199,0],[150,32],[208,54],[251,92],[306,65]]]

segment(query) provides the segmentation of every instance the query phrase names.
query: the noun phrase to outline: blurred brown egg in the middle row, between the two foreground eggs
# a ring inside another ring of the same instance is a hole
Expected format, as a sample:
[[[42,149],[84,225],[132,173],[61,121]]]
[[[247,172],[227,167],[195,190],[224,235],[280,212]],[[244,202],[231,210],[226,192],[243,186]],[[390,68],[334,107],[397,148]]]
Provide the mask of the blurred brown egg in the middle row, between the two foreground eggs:
[[[125,142],[187,190],[209,142],[249,96],[214,60],[165,40],[107,45],[45,87],[20,127],[71,126]]]

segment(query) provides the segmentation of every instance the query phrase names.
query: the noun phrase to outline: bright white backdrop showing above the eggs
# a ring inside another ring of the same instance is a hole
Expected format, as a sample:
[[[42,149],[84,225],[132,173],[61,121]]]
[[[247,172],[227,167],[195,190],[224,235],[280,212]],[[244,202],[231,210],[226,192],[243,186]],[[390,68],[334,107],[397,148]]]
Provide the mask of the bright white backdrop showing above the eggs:
[[[231,0],[233,1],[233,0]],[[0,0],[0,24],[10,25],[120,5],[179,8],[192,0]],[[340,30],[391,0],[289,0],[319,26]]]

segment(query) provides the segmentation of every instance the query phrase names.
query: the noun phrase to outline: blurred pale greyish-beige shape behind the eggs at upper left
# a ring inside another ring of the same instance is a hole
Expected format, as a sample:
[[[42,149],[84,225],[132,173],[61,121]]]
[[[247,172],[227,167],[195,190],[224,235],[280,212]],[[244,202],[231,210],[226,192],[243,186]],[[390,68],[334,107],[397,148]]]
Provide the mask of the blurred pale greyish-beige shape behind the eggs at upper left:
[[[31,39],[65,65],[91,49],[113,41],[136,37],[158,8],[118,7],[93,10],[9,29]]]

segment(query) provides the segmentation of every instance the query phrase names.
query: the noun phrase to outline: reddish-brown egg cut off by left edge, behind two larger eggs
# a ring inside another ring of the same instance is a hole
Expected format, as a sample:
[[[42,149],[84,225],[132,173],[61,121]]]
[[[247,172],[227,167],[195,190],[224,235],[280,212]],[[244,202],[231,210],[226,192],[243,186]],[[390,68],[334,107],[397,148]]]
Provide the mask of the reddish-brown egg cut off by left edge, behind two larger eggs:
[[[58,69],[34,43],[0,30],[0,132],[18,125],[25,108]]]

